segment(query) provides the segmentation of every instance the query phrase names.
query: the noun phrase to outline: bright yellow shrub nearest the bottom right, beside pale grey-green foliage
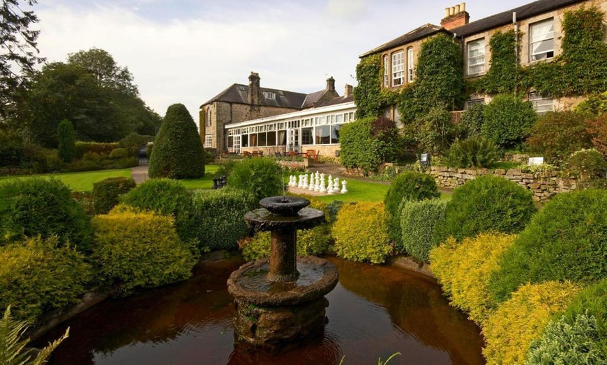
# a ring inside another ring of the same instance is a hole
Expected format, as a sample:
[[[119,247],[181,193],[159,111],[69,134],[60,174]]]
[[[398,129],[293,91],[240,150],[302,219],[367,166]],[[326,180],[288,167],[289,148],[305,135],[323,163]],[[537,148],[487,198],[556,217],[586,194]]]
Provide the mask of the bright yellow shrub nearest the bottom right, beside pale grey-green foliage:
[[[484,323],[487,364],[522,364],[532,341],[541,338],[551,317],[567,309],[579,291],[568,281],[518,288]]]

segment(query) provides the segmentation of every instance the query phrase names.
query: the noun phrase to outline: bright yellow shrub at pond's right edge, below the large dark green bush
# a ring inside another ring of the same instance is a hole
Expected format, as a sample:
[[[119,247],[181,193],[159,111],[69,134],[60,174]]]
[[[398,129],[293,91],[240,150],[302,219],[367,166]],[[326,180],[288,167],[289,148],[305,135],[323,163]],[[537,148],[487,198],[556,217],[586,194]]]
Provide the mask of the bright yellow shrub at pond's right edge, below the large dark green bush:
[[[500,256],[511,247],[515,235],[481,233],[458,244],[449,238],[430,251],[432,272],[451,304],[467,311],[470,319],[482,325],[494,304],[488,290],[491,273],[497,271]]]

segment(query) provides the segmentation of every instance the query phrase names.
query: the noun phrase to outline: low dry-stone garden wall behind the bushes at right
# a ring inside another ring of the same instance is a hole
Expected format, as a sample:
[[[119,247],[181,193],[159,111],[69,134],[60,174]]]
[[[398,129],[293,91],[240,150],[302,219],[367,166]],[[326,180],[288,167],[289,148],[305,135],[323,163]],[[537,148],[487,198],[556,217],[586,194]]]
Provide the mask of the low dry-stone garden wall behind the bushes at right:
[[[520,169],[452,169],[445,166],[431,166],[430,171],[427,172],[433,176],[440,189],[454,189],[477,176],[500,176],[530,189],[534,201],[546,201],[555,194],[570,192],[577,188],[575,178],[560,178],[555,171],[524,173]]]

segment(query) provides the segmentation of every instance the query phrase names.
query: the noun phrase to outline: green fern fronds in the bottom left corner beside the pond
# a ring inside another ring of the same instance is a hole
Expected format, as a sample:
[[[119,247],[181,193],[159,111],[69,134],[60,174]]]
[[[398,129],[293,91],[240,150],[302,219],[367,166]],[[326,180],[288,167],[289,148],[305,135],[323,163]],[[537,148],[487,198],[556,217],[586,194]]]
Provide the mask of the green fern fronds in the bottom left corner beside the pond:
[[[6,307],[4,316],[0,319],[0,364],[3,365],[41,365],[46,364],[51,352],[70,335],[70,329],[63,336],[49,343],[36,353],[26,348],[29,339],[24,339],[27,332],[27,321],[14,320],[10,314],[10,306]]]

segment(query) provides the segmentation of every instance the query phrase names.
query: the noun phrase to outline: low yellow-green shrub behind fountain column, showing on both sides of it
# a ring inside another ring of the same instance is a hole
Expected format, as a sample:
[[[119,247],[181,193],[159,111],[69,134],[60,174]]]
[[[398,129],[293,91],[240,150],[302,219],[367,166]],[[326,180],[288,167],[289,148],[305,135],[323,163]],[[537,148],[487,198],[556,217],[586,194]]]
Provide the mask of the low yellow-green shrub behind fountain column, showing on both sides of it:
[[[271,235],[269,232],[257,232],[252,238],[241,240],[240,248],[246,261],[270,256]],[[331,225],[321,224],[311,229],[297,231],[297,254],[320,255],[329,249]]]

